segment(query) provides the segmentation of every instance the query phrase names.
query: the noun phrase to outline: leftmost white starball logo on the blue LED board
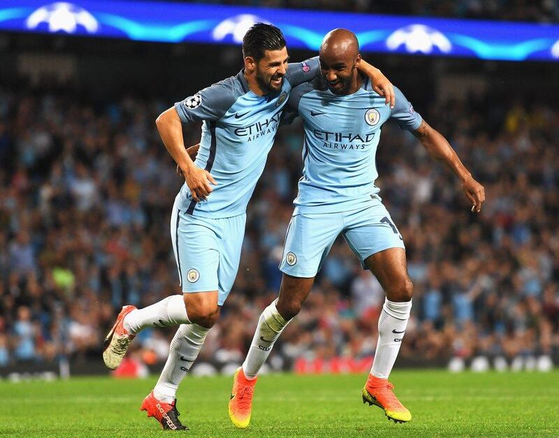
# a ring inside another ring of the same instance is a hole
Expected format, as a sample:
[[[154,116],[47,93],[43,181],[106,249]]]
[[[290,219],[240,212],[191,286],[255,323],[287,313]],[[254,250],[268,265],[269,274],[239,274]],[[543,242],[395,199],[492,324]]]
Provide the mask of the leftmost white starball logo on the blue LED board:
[[[95,34],[99,30],[99,23],[91,13],[80,6],[63,1],[38,8],[25,21],[27,29],[30,30],[43,23],[48,24],[49,32],[63,31],[66,34],[74,34],[79,27],[83,27],[88,34]]]

